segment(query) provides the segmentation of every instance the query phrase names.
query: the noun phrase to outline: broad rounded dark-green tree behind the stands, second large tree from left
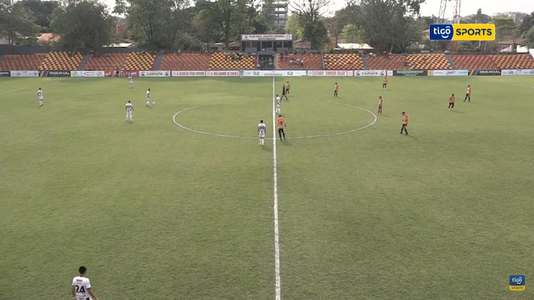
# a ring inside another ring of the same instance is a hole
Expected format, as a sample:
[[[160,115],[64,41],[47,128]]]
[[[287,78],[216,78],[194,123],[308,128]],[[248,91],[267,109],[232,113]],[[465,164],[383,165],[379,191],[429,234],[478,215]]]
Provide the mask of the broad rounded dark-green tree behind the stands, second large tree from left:
[[[50,26],[61,36],[62,46],[99,48],[111,42],[111,17],[96,1],[71,2],[57,8]]]

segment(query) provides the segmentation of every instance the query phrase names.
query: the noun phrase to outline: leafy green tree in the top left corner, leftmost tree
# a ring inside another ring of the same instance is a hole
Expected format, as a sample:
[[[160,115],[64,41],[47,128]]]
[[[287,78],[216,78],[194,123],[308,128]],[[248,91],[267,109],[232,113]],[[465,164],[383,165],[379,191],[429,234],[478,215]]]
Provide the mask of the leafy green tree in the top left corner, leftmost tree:
[[[2,0],[0,5],[0,36],[8,39],[8,44],[36,41],[39,26],[35,24],[35,16],[21,2],[10,3]]]

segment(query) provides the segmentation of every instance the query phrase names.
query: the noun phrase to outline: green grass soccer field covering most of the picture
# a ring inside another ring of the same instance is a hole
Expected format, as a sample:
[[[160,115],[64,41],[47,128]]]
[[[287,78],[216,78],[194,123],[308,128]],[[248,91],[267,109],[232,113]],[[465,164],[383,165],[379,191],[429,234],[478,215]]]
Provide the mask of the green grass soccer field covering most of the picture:
[[[282,299],[533,299],[533,78],[381,79],[1,79],[0,299],[275,299],[273,152]]]

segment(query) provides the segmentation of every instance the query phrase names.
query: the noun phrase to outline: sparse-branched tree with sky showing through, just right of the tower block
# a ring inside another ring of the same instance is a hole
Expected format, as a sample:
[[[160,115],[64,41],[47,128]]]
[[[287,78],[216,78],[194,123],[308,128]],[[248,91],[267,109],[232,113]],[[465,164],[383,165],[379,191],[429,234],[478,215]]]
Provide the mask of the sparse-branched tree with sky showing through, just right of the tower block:
[[[302,37],[310,42],[312,49],[322,48],[328,41],[328,31],[321,17],[330,5],[330,0],[296,0],[291,3],[293,13],[302,26]]]

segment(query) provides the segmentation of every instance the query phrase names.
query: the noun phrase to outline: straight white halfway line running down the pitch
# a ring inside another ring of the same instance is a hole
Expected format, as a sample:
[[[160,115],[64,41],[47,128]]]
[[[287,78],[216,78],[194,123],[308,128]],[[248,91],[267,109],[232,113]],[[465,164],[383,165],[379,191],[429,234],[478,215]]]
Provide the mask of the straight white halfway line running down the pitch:
[[[276,164],[276,110],[275,110],[275,78],[273,77],[273,194],[275,213],[275,300],[281,300],[280,295],[280,242],[278,231],[278,182],[277,182],[277,164]]]

